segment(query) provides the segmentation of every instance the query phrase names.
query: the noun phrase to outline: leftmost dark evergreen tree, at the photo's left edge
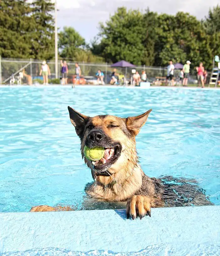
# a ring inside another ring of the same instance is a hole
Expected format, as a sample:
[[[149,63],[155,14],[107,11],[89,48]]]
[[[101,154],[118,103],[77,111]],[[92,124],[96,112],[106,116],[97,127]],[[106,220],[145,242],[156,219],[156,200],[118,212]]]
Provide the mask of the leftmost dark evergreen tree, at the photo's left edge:
[[[0,54],[5,58],[30,58],[34,19],[25,0],[0,1]]]

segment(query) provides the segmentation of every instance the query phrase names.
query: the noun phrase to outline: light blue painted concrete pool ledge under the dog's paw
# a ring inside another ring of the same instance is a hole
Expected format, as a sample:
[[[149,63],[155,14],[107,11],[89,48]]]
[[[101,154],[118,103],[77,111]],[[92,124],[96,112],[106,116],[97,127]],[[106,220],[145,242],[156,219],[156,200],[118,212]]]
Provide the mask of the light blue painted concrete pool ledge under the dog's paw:
[[[157,208],[142,220],[127,220],[125,210],[0,213],[0,253],[42,248],[220,253],[219,213],[220,206]]]

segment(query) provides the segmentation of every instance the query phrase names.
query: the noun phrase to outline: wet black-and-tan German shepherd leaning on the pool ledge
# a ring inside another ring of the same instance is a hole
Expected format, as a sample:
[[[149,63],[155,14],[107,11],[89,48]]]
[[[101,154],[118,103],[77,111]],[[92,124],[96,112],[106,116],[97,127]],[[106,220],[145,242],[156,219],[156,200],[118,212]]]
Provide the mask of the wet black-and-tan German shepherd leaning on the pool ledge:
[[[69,116],[81,141],[81,154],[91,169],[94,182],[85,187],[92,198],[126,202],[127,218],[151,217],[151,207],[211,205],[195,180],[172,176],[150,178],[141,170],[136,152],[135,136],[146,123],[151,110],[144,114],[119,118],[112,115],[85,116],[68,107]],[[104,147],[104,157],[92,162],[84,157],[84,147]],[[30,211],[70,210],[47,205]]]

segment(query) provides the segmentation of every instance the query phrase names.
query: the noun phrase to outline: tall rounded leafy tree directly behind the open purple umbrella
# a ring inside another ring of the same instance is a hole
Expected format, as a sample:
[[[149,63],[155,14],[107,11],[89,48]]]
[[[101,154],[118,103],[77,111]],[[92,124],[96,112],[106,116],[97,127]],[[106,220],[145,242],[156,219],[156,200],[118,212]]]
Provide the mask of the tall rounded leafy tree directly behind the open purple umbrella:
[[[138,10],[121,7],[106,24],[100,24],[102,56],[106,61],[127,60],[133,64],[145,63],[146,49],[143,45],[145,28],[143,14]]]

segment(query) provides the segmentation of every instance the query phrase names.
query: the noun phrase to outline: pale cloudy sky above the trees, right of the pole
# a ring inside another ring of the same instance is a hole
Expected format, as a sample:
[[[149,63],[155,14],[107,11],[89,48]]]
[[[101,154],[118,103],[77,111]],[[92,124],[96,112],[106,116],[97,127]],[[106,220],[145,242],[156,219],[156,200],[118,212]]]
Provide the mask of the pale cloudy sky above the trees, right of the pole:
[[[57,0],[58,27],[74,27],[89,43],[99,31],[99,22],[108,20],[118,7],[143,11],[149,7],[150,11],[167,14],[183,11],[202,19],[218,3],[219,0]]]

